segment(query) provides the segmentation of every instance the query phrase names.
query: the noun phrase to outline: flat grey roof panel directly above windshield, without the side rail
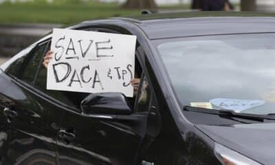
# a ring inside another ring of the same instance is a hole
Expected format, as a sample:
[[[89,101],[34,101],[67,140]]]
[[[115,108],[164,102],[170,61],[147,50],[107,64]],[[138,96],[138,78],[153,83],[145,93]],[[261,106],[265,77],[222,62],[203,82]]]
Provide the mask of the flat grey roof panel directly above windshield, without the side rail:
[[[274,18],[263,19],[257,17],[153,20],[144,21],[139,25],[146,32],[149,39],[275,32]]]

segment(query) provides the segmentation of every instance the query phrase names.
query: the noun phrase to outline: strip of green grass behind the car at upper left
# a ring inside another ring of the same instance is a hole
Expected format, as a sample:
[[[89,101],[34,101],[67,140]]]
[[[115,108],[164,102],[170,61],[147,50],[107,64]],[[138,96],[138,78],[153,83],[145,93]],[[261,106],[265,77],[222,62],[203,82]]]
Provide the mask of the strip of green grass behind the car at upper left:
[[[2,3],[0,23],[76,23],[88,19],[139,14],[139,10],[122,9],[117,3],[86,3],[33,1],[28,3]]]

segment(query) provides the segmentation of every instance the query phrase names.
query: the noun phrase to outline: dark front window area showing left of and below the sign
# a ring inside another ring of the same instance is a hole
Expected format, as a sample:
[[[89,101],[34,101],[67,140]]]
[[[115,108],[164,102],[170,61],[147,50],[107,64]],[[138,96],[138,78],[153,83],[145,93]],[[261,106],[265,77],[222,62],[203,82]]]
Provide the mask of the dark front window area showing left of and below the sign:
[[[47,47],[47,51],[49,50],[50,50],[50,44],[49,44],[49,47]],[[45,56],[45,54],[43,54],[43,56]],[[80,107],[80,102],[88,95],[86,93],[78,93],[73,91],[48,90],[47,89],[47,69],[44,67],[43,61],[41,61],[40,63],[40,69],[39,69],[39,73],[37,74],[34,87],[36,87],[43,93],[47,94],[48,96],[51,96],[52,98],[55,98],[56,100],[59,100],[67,104],[69,107],[75,107],[75,108]]]

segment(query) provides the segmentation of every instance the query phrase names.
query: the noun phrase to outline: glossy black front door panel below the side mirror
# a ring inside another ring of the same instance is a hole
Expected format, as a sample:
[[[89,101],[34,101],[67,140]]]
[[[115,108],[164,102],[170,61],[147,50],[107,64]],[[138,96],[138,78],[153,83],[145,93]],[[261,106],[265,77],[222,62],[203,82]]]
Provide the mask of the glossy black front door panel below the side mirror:
[[[142,137],[131,125],[65,112],[62,128],[72,129],[76,139],[69,143],[58,139],[59,162],[67,164],[66,157],[71,157],[94,164],[134,164]]]

